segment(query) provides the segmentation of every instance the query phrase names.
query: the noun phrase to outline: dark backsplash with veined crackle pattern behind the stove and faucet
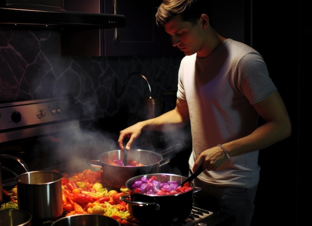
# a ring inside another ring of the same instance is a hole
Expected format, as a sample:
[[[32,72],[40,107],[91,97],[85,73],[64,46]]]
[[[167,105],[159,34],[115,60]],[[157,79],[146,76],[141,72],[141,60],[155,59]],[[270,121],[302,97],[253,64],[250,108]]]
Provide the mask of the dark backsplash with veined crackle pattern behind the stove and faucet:
[[[0,103],[52,97],[72,97],[81,119],[134,113],[141,98],[175,93],[180,57],[61,56],[58,31],[0,30]]]

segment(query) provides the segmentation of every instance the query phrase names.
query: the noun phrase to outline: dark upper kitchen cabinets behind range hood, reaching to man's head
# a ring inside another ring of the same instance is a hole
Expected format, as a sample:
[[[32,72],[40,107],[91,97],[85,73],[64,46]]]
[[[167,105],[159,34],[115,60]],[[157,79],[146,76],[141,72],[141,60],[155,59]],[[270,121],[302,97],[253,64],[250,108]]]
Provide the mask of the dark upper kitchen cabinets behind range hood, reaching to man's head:
[[[182,55],[171,45],[171,37],[155,21],[161,0],[75,0],[64,1],[71,11],[122,14],[126,26],[93,30],[62,30],[63,55],[133,56]]]

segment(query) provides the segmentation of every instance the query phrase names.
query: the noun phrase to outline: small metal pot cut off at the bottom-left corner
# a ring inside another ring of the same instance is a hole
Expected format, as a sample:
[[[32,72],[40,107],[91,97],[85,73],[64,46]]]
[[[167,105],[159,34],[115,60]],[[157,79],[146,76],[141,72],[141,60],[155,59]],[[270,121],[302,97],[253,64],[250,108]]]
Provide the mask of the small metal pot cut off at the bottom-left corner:
[[[32,216],[21,210],[1,210],[0,226],[31,226]]]

